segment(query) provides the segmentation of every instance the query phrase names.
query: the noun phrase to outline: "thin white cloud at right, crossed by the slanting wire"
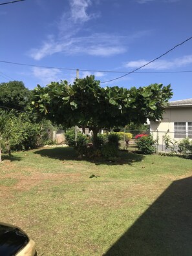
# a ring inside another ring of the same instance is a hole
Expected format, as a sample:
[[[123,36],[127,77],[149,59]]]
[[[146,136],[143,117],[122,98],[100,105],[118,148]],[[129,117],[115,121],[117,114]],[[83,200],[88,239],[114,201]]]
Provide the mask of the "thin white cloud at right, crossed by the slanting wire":
[[[148,63],[149,60],[139,59],[138,61],[129,61],[125,63],[124,67],[136,69]],[[166,61],[162,59],[158,59],[149,65],[143,67],[142,69],[155,69],[155,70],[165,70],[165,69],[175,69],[178,67],[183,67],[187,64],[192,63],[192,55],[183,56],[182,58],[176,58],[172,61]]]

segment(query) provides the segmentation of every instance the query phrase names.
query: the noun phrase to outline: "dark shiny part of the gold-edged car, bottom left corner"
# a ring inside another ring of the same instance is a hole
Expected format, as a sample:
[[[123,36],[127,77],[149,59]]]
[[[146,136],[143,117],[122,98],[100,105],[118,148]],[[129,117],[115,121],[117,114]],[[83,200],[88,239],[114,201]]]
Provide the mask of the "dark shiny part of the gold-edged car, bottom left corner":
[[[19,228],[0,224],[0,255],[16,255],[28,241],[27,235]]]

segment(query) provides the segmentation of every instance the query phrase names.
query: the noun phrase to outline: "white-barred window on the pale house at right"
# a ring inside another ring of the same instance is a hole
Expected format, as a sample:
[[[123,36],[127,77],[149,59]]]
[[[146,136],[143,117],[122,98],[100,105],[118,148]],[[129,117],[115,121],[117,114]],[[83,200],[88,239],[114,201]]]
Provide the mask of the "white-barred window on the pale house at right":
[[[174,138],[192,138],[192,122],[175,122]]]

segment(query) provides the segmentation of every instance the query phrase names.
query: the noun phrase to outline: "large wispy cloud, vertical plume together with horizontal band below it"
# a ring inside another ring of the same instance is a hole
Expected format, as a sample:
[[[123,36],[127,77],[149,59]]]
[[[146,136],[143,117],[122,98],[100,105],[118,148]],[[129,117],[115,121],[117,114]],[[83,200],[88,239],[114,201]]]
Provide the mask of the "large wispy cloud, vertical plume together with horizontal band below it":
[[[143,1],[143,0],[142,0]],[[145,0],[146,1],[146,0]],[[147,0],[149,1],[149,0]],[[89,6],[95,3],[91,0],[70,0],[70,10],[63,12],[57,25],[57,34],[47,36],[47,39],[28,55],[36,60],[56,53],[65,55],[87,54],[91,56],[114,56],[127,51],[127,44],[133,39],[145,36],[149,31],[135,32],[131,36],[118,34],[92,33],[78,36],[83,24],[98,17],[94,12],[88,13]]]

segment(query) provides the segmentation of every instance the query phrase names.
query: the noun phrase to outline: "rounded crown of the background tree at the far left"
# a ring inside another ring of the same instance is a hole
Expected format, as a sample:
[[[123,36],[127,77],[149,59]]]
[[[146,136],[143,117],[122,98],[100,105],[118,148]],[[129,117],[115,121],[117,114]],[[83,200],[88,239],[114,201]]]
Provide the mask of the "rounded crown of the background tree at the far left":
[[[0,105],[10,109],[25,111],[30,101],[30,90],[23,81],[0,83]]]

